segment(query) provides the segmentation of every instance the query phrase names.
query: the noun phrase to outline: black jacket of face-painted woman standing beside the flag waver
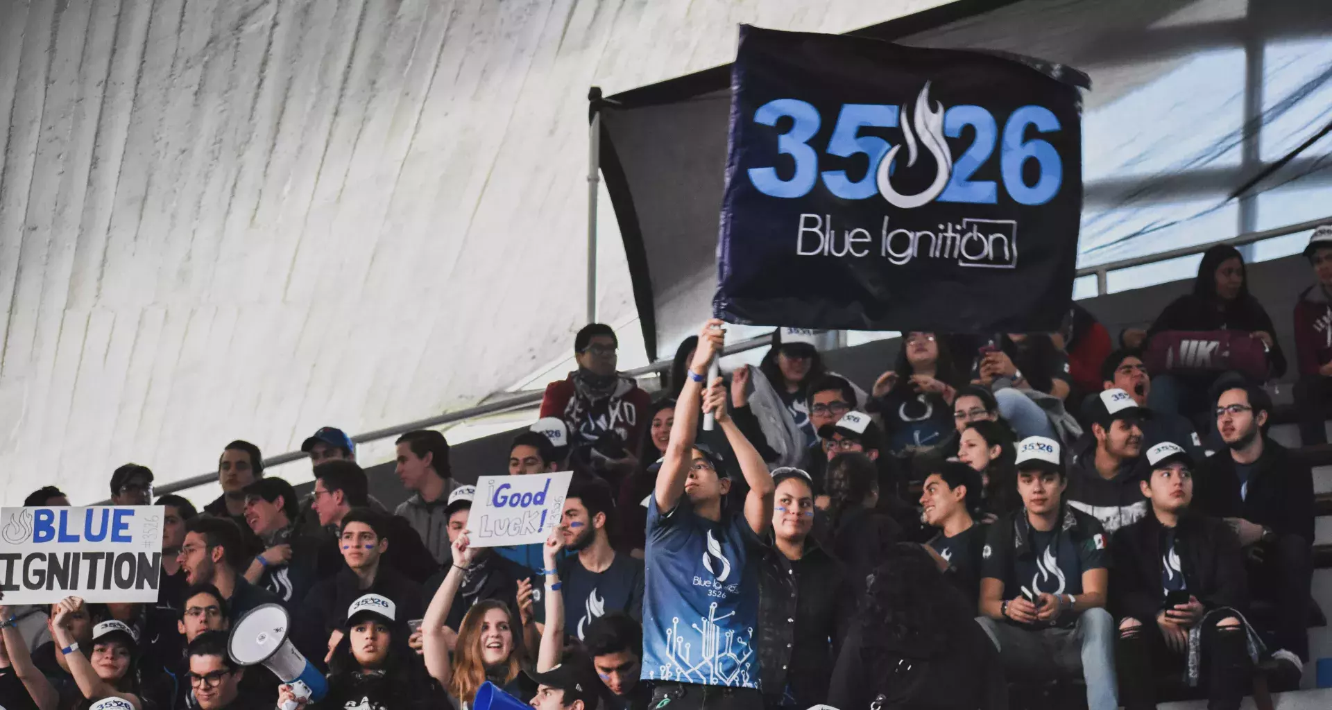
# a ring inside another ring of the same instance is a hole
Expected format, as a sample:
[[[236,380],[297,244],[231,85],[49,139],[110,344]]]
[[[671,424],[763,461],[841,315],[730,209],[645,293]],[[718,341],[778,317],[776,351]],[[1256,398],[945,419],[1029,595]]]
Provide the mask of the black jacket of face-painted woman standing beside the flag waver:
[[[781,701],[787,685],[799,707],[827,701],[829,678],[855,614],[856,589],[842,562],[806,538],[793,562],[771,546],[759,561],[758,655],[763,694]]]

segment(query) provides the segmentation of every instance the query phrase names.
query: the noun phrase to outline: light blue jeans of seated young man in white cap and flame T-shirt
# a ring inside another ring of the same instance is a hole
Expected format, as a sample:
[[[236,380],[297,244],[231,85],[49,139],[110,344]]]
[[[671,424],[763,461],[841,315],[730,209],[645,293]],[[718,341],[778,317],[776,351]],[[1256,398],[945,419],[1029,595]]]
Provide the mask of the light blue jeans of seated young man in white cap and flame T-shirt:
[[[1082,675],[1088,710],[1116,710],[1115,619],[1104,609],[1088,609],[1072,629],[1023,629],[979,617],[976,622],[999,649],[1010,679],[1052,681]]]

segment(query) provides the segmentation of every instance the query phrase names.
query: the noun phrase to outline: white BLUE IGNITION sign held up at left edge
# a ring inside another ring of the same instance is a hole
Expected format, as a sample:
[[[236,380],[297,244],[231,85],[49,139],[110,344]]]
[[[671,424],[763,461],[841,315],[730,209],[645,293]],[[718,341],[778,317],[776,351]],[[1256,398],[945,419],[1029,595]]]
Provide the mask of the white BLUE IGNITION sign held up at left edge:
[[[157,601],[161,508],[3,508],[0,539],[5,603]]]

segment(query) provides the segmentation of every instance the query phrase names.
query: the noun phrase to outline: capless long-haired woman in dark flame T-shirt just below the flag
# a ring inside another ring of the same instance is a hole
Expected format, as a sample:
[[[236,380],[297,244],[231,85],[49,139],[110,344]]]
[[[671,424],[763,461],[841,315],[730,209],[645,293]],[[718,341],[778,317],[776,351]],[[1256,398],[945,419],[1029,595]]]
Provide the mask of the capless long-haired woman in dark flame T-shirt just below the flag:
[[[908,457],[943,445],[952,432],[952,400],[960,382],[942,338],[919,330],[904,333],[896,365],[879,376],[866,408],[883,417],[888,452]]]

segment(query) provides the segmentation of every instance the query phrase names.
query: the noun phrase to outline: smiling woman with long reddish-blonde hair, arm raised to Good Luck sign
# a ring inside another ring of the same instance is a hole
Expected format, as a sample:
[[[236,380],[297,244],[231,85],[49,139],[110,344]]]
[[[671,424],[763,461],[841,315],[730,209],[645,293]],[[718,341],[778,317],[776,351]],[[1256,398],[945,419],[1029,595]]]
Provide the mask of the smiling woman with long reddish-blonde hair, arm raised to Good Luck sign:
[[[531,694],[522,683],[522,670],[527,665],[522,623],[503,602],[484,599],[468,610],[458,625],[452,662],[449,659],[444,622],[462,586],[462,573],[476,562],[478,550],[470,546],[466,530],[454,538],[452,547],[453,566],[421,621],[426,671],[444,686],[458,710],[472,706],[477,689],[486,681],[526,702]]]

